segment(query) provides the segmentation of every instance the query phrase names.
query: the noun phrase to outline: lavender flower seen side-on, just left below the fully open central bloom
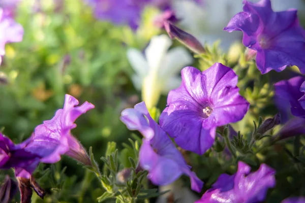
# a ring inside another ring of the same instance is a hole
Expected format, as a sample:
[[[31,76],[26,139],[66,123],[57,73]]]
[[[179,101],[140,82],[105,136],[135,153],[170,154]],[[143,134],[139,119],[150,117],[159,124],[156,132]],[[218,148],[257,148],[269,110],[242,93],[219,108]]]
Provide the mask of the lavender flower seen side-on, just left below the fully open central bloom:
[[[135,105],[134,109],[124,110],[120,120],[128,129],[138,130],[143,134],[139,163],[149,172],[147,178],[151,182],[155,185],[167,185],[185,174],[191,179],[192,189],[201,191],[203,182],[191,172],[190,166],[166,132],[150,117],[144,102]]]

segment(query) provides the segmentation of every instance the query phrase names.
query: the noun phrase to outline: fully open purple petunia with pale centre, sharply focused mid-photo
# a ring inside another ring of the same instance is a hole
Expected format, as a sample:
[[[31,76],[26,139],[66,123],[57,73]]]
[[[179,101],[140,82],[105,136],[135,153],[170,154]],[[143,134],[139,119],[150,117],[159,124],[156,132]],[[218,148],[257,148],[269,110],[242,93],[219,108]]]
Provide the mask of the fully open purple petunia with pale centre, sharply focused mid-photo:
[[[216,127],[241,120],[249,103],[238,93],[237,75],[221,63],[203,72],[185,67],[181,77],[180,87],[168,94],[160,125],[181,148],[203,154],[214,143]]]

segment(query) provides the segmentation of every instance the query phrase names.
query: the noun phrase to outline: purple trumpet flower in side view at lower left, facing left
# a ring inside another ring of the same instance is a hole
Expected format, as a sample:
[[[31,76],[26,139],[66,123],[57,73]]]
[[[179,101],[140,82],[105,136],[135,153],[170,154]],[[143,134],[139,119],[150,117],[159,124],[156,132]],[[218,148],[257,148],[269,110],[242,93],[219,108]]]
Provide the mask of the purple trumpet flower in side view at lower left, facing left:
[[[38,125],[32,136],[20,144],[15,145],[0,134],[0,168],[14,167],[17,177],[29,179],[40,162],[55,163],[63,154],[90,165],[86,151],[70,130],[76,127],[74,121],[94,105],[87,101],[77,107],[78,104],[76,98],[66,94],[64,108]]]

